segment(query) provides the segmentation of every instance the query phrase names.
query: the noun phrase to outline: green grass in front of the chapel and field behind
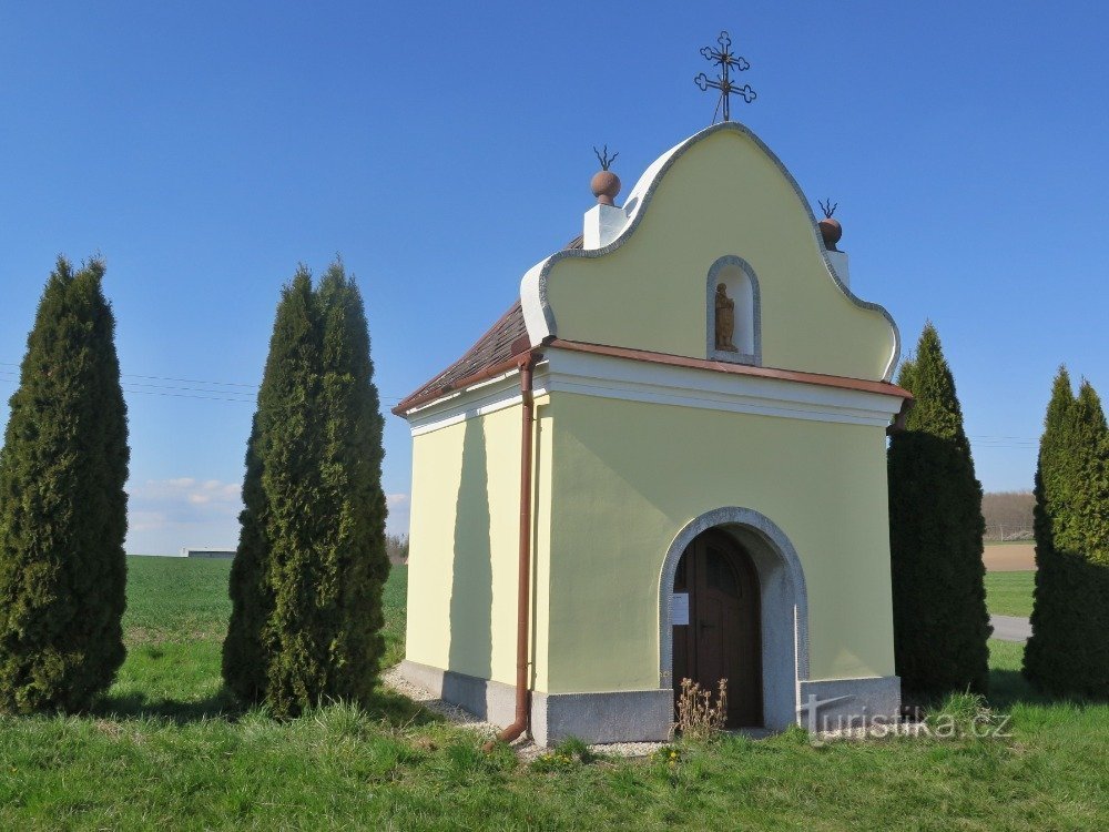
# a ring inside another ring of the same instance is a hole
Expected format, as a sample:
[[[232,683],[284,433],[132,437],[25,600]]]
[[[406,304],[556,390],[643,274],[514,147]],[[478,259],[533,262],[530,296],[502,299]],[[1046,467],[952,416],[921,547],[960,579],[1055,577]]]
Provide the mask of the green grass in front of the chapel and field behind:
[[[1109,826],[1109,707],[1050,702],[991,642],[1007,739],[800,731],[526,765],[381,692],[278,722],[221,690],[227,561],[130,560],[130,655],[84,717],[0,718],[3,830],[1044,830]],[[403,652],[404,568],[387,597]],[[991,599],[999,596],[991,590]],[[991,600],[993,602],[993,600]],[[671,762],[673,760],[673,762]]]

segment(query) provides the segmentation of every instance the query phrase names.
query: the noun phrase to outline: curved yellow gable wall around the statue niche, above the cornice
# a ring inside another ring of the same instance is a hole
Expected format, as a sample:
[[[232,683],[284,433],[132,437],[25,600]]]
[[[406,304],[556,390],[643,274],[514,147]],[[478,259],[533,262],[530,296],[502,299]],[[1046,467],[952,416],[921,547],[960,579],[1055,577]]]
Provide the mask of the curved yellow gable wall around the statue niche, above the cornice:
[[[787,174],[747,133],[695,140],[662,174],[617,248],[558,260],[547,297],[558,337],[706,357],[710,267],[737,255],[754,270],[762,364],[881,379],[893,325],[833,281],[813,217]]]

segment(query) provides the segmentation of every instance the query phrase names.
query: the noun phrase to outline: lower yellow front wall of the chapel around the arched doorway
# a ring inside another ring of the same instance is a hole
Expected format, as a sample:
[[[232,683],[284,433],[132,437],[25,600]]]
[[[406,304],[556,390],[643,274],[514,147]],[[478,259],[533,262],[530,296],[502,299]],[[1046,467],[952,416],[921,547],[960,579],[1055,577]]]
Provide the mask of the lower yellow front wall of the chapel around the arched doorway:
[[[659,687],[659,584],[693,518],[736,506],[790,538],[812,679],[894,673],[881,427],[568,393],[556,430],[550,692]]]

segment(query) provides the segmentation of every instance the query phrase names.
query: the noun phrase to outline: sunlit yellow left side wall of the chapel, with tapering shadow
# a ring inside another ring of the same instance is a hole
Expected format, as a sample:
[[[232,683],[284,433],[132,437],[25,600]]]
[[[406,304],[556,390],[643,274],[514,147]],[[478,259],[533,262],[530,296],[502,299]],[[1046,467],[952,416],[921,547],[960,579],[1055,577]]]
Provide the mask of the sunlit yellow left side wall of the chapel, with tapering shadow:
[[[533,495],[540,528],[550,517],[542,404]],[[520,406],[415,436],[411,494],[406,658],[515,683]],[[537,572],[546,568],[546,541],[537,534]],[[537,630],[536,648],[545,647],[546,632],[539,639]]]

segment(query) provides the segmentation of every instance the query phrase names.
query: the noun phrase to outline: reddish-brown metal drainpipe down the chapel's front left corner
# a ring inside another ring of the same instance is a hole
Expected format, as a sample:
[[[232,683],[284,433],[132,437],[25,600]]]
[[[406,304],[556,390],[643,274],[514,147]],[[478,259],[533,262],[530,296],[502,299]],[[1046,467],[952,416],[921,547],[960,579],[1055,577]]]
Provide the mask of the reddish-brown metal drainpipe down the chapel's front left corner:
[[[520,434],[520,564],[516,619],[516,720],[497,734],[511,742],[527,731],[531,722],[531,691],[528,689],[528,622],[531,618],[531,468],[535,443],[536,405],[531,395],[532,371],[539,356],[528,353],[520,357],[520,396],[523,413]],[[492,742],[485,750],[492,750]]]

